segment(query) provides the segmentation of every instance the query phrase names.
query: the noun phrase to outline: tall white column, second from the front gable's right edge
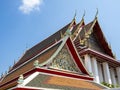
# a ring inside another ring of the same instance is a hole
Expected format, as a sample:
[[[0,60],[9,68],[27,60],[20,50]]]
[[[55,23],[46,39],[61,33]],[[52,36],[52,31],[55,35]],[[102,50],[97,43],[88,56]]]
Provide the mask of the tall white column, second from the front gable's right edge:
[[[95,57],[92,57],[92,70],[93,70],[93,75],[95,77],[95,81],[97,83],[100,83],[100,80],[99,80],[99,74],[98,74],[98,65],[97,65],[97,60]]]

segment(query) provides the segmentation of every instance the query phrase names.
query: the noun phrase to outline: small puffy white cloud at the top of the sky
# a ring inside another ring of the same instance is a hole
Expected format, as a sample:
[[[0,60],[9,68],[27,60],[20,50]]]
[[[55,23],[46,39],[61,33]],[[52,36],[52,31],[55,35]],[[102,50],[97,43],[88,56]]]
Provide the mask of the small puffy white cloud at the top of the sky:
[[[29,14],[30,12],[40,10],[43,0],[22,0],[22,5],[19,7],[24,14]]]

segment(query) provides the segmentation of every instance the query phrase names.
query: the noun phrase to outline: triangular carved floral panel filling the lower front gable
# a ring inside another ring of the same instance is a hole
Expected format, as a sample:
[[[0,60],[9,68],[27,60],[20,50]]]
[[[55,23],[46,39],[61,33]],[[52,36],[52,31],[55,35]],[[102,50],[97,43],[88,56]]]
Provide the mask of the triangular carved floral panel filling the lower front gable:
[[[66,46],[64,46],[58,55],[52,61],[51,68],[59,70],[67,70],[72,72],[80,72],[75,65],[70,53],[68,52]]]

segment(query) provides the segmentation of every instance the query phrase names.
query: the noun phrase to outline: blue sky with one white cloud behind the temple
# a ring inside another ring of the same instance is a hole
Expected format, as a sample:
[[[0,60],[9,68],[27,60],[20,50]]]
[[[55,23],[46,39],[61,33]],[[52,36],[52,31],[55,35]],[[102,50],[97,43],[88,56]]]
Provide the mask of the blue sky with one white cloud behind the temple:
[[[77,11],[79,22],[92,21],[96,8],[102,31],[120,60],[119,0],[1,0],[0,73],[8,70],[23,53],[68,24]]]

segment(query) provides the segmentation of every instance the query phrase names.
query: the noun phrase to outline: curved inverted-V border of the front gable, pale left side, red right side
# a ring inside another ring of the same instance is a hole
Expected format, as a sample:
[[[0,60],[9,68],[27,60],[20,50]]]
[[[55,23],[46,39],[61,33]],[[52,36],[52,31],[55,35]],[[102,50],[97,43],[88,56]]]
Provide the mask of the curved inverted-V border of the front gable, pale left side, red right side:
[[[65,46],[65,44],[67,45],[67,49],[69,49],[69,52],[70,52],[75,64],[77,65],[78,69],[82,73],[89,75],[88,71],[84,67],[84,65],[75,49],[75,46],[72,43],[72,40],[69,36],[65,36],[63,38],[63,42],[61,43],[59,48],[56,50],[56,52],[47,61],[41,63],[40,66],[42,67],[42,66],[46,66],[47,64],[50,64],[54,60],[54,58],[59,54],[59,52],[62,50],[62,48]],[[49,67],[49,65],[48,65],[48,67]]]

